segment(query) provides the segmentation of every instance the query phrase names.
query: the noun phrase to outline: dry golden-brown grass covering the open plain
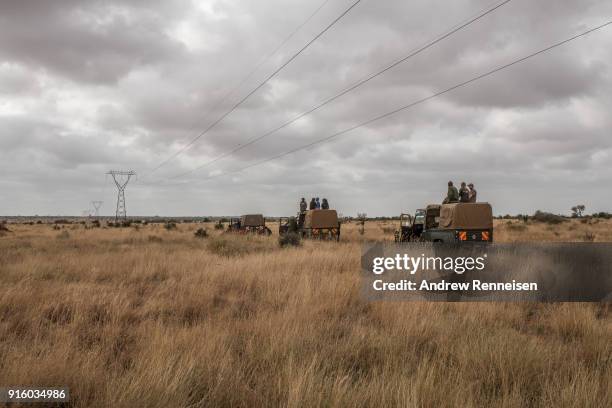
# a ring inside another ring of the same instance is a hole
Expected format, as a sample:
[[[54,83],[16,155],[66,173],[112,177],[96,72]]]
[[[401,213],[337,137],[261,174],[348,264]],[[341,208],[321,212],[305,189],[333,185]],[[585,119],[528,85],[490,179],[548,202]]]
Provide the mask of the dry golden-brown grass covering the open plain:
[[[612,241],[609,221],[511,225],[498,241]],[[0,384],[78,407],[612,406],[607,306],[368,303],[360,242],[394,223],[282,249],[199,227],[11,225]]]

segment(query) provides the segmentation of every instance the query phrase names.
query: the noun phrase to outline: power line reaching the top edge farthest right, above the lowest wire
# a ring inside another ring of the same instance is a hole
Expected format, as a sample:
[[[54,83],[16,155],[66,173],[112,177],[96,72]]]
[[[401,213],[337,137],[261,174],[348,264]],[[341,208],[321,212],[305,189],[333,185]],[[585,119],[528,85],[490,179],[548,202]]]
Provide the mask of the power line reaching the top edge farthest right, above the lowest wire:
[[[436,45],[439,42],[445,40],[446,38],[450,37],[451,35],[455,34],[456,32],[466,28],[467,26],[475,23],[476,21],[480,20],[481,18],[485,17],[486,15],[494,12],[495,10],[497,10],[498,8],[504,6],[505,4],[509,3],[510,1],[512,1],[512,0],[502,1],[501,3],[495,5],[495,6],[491,7],[491,8],[488,8],[488,9],[486,9],[483,12],[480,12],[475,17],[472,17],[472,18],[468,19],[467,21],[465,21],[463,23],[459,23],[459,25],[454,26],[450,30],[446,31],[444,34],[436,37],[434,40],[431,40],[430,42],[426,43],[425,45],[423,45],[423,46],[421,46],[421,47],[411,51],[405,57],[402,57],[399,60],[396,60],[396,61],[392,62],[391,64],[385,66],[381,70],[379,70],[379,71],[377,71],[377,72],[375,72],[373,74],[370,74],[370,75],[362,78],[361,80],[355,82],[353,85],[351,85],[348,88],[344,89],[340,93],[338,93],[338,94],[336,94],[336,95],[334,95],[334,96],[324,100],[323,102],[319,103],[318,105],[314,106],[313,108],[298,114],[297,116],[293,117],[292,119],[288,120],[287,122],[283,123],[282,125],[274,128],[272,130],[269,130],[269,131],[267,131],[266,133],[264,133],[264,134],[262,134],[260,136],[257,136],[257,137],[255,137],[253,139],[250,139],[246,143],[241,144],[241,145],[235,147],[234,149],[232,149],[232,150],[230,150],[230,151],[228,151],[226,153],[223,153],[220,156],[217,156],[216,158],[214,158],[214,159],[212,159],[212,160],[210,160],[210,161],[208,161],[208,162],[206,162],[206,163],[204,163],[204,164],[202,164],[202,165],[200,165],[200,166],[198,166],[198,167],[196,167],[196,168],[194,168],[192,170],[189,170],[189,171],[177,174],[177,175],[175,175],[173,177],[170,177],[169,180],[173,180],[173,179],[177,179],[177,178],[180,178],[180,177],[184,177],[184,176],[186,176],[188,174],[191,174],[191,173],[193,173],[193,172],[195,172],[197,170],[200,170],[200,169],[202,169],[204,167],[210,166],[211,164],[216,163],[216,162],[218,162],[219,160],[221,160],[221,159],[223,159],[225,157],[231,156],[232,154],[234,154],[234,153],[236,153],[236,152],[238,152],[238,151],[240,151],[240,150],[242,150],[242,149],[244,149],[244,148],[246,148],[246,147],[248,147],[250,145],[253,145],[253,144],[257,143],[258,141],[260,141],[260,140],[262,140],[262,139],[264,139],[264,138],[266,138],[266,137],[268,137],[268,136],[278,132],[279,130],[282,130],[283,128],[291,125],[292,123],[298,121],[299,119],[301,119],[301,118],[303,118],[303,117],[305,117],[307,115],[310,115],[311,113],[319,110],[323,106],[325,106],[325,105],[335,101],[336,99],[346,95],[347,93],[349,93],[351,91],[354,91],[355,89],[359,88],[360,86],[370,82],[374,78],[384,74],[385,72],[389,71],[390,69],[392,69],[392,68],[394,68],[394,67],[396,67],[396,66],[398,66],[398,65],[400,65],[400,64],[402,64],[404,62],[406,62],[410,58],[420,54],[421,52],[427,50],[428,48],[433,47],[434,45]]]

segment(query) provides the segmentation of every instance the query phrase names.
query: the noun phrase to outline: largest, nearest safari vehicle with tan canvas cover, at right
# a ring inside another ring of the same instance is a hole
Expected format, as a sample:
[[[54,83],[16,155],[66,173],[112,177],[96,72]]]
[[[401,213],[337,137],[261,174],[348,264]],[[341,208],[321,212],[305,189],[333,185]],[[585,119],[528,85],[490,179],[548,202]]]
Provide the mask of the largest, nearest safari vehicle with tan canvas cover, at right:
[[[421,227],[411,222],[396,232],[396,242],[493,242],[493,210],[489,203],[428,205]]]

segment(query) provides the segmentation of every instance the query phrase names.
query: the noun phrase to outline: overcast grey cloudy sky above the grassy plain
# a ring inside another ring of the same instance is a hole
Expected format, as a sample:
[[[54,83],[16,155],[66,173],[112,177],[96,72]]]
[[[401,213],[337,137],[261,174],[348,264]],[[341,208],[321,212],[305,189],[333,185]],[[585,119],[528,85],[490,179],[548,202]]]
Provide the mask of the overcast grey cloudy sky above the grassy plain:
[[[110,169],[128,215],[291,215],[304,196],[394,215],[474,182],[494,213],[612,211],[612,26],[334,141],[349,128],[612,19],[612,2],[513,0],[259,143],[181,178],[494,4],[362,0],[191,148],[151,173],[354,0],[0,0],[0,215],[81,215]],[[264,61],[263,64],[261,62]],[[260,68],[222,100],[251,70]]]

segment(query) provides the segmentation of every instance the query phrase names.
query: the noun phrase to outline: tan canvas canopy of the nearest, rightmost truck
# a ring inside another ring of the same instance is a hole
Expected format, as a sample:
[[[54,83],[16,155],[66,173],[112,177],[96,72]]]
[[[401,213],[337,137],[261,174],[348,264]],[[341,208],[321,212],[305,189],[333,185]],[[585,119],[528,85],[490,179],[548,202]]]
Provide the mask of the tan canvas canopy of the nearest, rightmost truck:
[[[440,228],[491,229],[493,210],[489,203],[443,204],[440,208]]]

